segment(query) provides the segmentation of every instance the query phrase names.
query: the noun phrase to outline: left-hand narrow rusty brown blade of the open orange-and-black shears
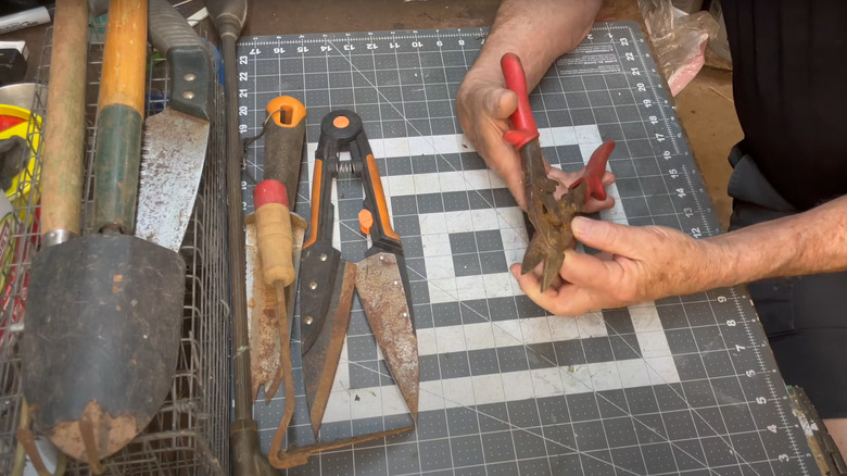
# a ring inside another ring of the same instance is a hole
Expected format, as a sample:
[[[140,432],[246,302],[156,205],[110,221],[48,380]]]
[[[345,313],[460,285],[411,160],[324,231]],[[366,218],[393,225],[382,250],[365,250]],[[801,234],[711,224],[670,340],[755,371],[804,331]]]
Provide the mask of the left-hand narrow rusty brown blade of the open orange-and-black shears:
[[[315,343],[303,354],[303,380],[306,387],[312,430],[317,438],[329,392],[336,379],[341,348],[347,334],[353,291],[356,285],[356,266],[342,261],[337,270],[336,284],[326,322],[320,327]],[[302,298],[301,298],[302,299]],[[302,316],[301,316],[302,318]]]

